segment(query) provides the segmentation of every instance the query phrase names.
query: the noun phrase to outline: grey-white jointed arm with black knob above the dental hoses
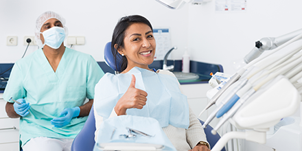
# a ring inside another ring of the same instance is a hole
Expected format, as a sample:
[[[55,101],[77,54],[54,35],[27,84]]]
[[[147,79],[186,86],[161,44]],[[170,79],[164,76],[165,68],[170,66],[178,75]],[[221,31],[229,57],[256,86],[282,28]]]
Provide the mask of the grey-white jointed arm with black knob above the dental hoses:
[[[250,51],[245,57],[244,62],[249,63],[255,58],[259,57],[264,51],[275,49],[276,47],[279,47],[283,43],[286,43],[288,40],[294,38],[295,36],[298,36],[302,33],[302,29],[296,30],[294,32],[290,32],[288,34],[285,34],[283,36],[279,36],[277,38],[273,37],[266,37],[262,38],[259,41],[256,42],[255,47]]]

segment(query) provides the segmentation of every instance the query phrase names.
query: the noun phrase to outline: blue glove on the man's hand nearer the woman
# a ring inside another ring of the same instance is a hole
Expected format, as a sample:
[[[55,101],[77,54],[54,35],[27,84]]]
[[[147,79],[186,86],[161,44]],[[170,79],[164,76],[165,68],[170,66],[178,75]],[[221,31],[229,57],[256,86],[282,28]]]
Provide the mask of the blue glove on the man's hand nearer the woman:
[[[73,117],[78,117],[80,115],[80,108],[78,106],[74,108],[65,108],[60,115],[62,117],[57,117],[51,120],[51,124],[56,128],[67,126]]]

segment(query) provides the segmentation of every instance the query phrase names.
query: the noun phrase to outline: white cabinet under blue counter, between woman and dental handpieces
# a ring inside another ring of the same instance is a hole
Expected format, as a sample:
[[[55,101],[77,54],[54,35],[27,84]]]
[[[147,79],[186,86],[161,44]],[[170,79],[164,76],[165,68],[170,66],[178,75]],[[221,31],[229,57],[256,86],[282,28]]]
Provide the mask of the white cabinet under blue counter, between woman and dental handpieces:
[[[187,95],[187,101],[189,103],[190,108],[193,110],[196,116],[200,114],[200,112],[205,108],[205,106],[209,103],[209,99],[207,98],[207,91],[213,89],[209,84],[181,84],[181,91],[183,91],[184,95]],[[212,113],[215,106],[209,108],[205,113],[199,117],[200,120],[205,121],[207,117]],[[209,125],[212,127],[218,124],[218,119],[214,118],[213,121]]]

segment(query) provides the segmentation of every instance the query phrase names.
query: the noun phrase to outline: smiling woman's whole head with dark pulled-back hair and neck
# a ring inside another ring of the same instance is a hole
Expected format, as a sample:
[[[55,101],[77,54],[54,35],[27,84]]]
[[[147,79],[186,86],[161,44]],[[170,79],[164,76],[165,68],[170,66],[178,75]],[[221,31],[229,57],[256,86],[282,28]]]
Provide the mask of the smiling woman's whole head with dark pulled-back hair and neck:
[[[142,28],[140,29],[137,27]],[[124,71],[126,68],[128,68],[127,71],[129,71],[129,69],[135,67],[135,65],[139,65],[139,67],[142,67],[143,69],[148,69],[150,61],[152,63],[154,60],[156,43],[153,36],[153,28],[148,19],[142,16],[132,15],[123,17],[113,31],[111,42],[113,56],[116,58],[118,53],[123,56],[121,65],[117,65],[115,62],[116,66],[121,66],[121,71]],[[140,48],[140,46],[142,47]],[[124,51],[127,54],[124,54]],[[145,62],[141,62],[141,60],[139,61],[140,63],[137,62],[138,60],[135,59],[134,56],[132,57],[130,55],[130,51],[137,51],[136,53],[141,53],[136,54],[135,56],[137,57],[138,55],[141,55],[141,57],[145,55],[145,59],[148,61],[145,60]],[[148,56],[148,54],[150,54],[150,56]],[[131,59],[129,58],[130,60],[128,60],[128,57]],[[130,67],[128,67],[128,62],[130,62]],[[148,65],[146,66],[146,64]]]

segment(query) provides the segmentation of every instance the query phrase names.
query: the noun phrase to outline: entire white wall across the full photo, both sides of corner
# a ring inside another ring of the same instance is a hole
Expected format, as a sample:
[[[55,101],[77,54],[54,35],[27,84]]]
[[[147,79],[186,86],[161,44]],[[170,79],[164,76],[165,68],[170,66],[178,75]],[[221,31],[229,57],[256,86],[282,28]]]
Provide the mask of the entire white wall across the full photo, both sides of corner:
[[[1,0],[0,63],[15,62],[25,51],[24,36],[34,35],[36,18],[47,10],[67,20],[69,36],[85,36],[85,45],[73,48],[103,61],[103,49],[111,40],[121,16],[141,14],[154,27],[170,27],[172,58],[179,60],[188,47],[191,60],[221,64],[234,73],[234,61],[244,58],[255,41],[277,37],[302,27],[301,0],[248,0],[244,12],[216,12],[215,0],[202,5],[187,4],[170,10],[155,0]],[[7,36],[18,36],[17,46],[7,46]],[[35,51],[30,46],[27,54]]]

